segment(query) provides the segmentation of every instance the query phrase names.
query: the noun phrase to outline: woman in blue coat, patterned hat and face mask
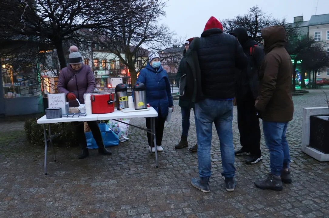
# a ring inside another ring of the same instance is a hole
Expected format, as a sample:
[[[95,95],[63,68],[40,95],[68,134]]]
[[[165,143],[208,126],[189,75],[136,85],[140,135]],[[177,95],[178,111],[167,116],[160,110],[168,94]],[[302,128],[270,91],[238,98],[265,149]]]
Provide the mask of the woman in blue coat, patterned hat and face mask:
[[[160,56],[156,52],[150,52],[145,68],[139,72],[137,82],[145,84],[146,101],[158,112],[158,117],[155,119],[155,134],[157,151],[163,151],[162,137],[164,133],[164,121],[168,116],[169,107],[174,108],[171,96],[171,88],[167,72],[162,68]],[[146,118],[146,127],[151,128],[151,118]],[[153,137],[147,133],[148,145],[151,149]],[[154,146],[154,145],[153,145]],[[155,148],[152,148],[155,152]]]

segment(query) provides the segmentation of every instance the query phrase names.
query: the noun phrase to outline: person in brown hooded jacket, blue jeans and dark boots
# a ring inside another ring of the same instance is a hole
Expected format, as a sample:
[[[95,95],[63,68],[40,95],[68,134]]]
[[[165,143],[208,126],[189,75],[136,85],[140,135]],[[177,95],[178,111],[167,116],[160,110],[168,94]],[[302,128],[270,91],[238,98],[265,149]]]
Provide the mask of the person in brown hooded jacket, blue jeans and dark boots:
[[[282,26],[262,30],[265,59],[260,68],[260,94],[255,102],[263,119],[266,146],[270,153],[271,173],[255,185],[262,189],[282,190],[282,182],[291,183],[290,154],[286,140],[288,122],[293,117],[291,96],[292,62],[284,48],[286,31]]]

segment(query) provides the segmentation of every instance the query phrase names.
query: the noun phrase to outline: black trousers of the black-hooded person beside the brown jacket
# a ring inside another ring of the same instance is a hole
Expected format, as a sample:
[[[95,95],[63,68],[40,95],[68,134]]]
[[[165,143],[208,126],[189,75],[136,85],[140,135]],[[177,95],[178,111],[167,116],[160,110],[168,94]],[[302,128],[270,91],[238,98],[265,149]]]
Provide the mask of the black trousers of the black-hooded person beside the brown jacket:
[[[251,93],[243,100],[237,100],[238,127],[242,149],[251,155],[261,157],[261,129]]]

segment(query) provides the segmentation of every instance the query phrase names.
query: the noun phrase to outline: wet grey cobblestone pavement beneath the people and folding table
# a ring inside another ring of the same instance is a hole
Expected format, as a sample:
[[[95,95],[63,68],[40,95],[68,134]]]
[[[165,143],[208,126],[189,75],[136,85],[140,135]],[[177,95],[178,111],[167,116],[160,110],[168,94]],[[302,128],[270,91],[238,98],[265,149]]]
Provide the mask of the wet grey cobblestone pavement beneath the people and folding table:
[[[329,89],[327,89],[329,91]],[[174,150],[181,133],[178,101],[172,123],[164,130],[164,152],[159,168],[147,152],[146,135],[130,128],[130,140],[112,147],[111,157],[95,150],[78,160],[79,148],[56,148],[57,162],[48,153],[48,175],[43,174],[43,148],[35,148],[9,137],[0,149],[0,217],[329,217],[329,164],[302,153],[302,108],[326,106],[321,90],[293,97],[294,120],[288,127],[293,183],[281,192],[260,190],[256,179],[269,171],[269,155],[262,138],[264,160],[247,166],[236,158],[234,192],[226,192],[219,140],[213,131],[211,192],[190,185],[198,177],[197,155],[187,149]],[[234,111],[234,143],[239,131]],[[193,117],[193,116],[191,116]],[[132,119],[145,126],[144,119]],[[23,134],[22,122],[2,121],[2,138]],[[40,136],[41,137],[41,136]],[[1,138],[0,138],[1,139]],[[196,142],[191,119],[190,144]]]

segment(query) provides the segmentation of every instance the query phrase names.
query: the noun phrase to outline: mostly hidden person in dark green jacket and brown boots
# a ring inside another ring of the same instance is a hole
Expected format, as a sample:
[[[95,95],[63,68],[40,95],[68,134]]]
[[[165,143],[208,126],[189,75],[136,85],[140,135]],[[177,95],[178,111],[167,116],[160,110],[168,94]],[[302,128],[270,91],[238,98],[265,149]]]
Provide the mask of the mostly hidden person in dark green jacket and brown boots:
[[[193,41],[194,38],[190,38],[185,42],[185,49],[183,52],[183,58],[186,54],[186,51],[189,49],[190,43]],[[177,77],[176,77],[176,82],[177,86],[179,87],[179,80],[181,76],[183,76],[184,72],[182,72],[181,69],[181,64],[178,67],[177,71]],[[189,134],[189,129],[190,129],[190,112],[191,108],[193,108],[194,111],[194,103],[192,102],[192,99],[187,98],[186,96],[180,96],[179,97],[179,106],[181,107],[182,110],[182,137],[181,141],[178,143],[178,145],[175,146],[176,149],[182,149],[186,148],[189,146],[189,142],[187,141],[187,137]],[[195,117],[195,111],[194,111],[194,120],[196,122],[196,117]],[[190,152],[197,152],[198,144],[195,144],[193,147],[191,147],[189,150]]]

